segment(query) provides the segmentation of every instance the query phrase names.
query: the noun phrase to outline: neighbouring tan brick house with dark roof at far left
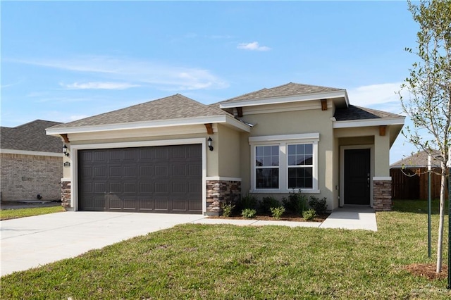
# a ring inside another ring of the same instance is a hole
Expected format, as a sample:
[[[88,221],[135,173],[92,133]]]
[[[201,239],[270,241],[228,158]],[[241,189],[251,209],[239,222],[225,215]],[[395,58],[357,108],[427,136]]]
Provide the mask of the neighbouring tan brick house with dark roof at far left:
[[[34,120],[0,127],[1,201],[61,199],[63,143],[45,132],[58,124]]]

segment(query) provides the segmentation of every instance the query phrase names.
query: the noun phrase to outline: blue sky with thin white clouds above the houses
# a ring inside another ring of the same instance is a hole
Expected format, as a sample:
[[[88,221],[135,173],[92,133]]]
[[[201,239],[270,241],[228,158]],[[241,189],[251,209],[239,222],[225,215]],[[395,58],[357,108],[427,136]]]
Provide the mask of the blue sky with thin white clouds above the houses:
[[[418,30],[404,1],[1,1],[0,11],[6,127],[288,82],[401,114],[395,92],[418,59],[404,51]],[[400,135],[390,163],[414,151]]]

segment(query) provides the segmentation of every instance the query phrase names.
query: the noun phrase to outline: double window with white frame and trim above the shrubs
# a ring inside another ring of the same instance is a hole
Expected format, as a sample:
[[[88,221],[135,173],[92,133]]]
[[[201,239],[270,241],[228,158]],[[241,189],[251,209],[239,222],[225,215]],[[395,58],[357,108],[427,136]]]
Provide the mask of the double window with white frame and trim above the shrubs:
[[[318,190],[319,133],[249,137],[251,192]]]

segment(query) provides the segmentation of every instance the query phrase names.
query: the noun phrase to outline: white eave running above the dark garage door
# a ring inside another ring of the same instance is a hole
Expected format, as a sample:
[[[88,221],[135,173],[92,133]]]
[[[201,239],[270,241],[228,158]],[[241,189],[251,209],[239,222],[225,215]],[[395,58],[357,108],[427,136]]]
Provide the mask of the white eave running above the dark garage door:
[[[91,125],[81,127],[56,127],[56,128],[50,127],[47,128],[46,132],[47,135],[59,136],[62,134],[73,134],[73,133],[104,132],[113,130],[136,130],[157,127],[199,125],[206,123],[226,123],[231,127],[235,127],[245,132],[250,132],[249,125],[246,125],[245,123],[240,122],[240,120],[236,120],[235,118],[229,115],[213,115],[196,118],[179,118],[179,119],[154,120],[133,123]]]

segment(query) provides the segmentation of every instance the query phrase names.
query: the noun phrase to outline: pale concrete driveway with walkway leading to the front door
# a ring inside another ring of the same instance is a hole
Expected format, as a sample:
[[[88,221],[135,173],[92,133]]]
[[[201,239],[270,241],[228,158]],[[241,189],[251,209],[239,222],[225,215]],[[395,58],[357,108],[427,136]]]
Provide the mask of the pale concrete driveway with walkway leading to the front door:
[[[0,222],[0,275],[75,257],[91,249],[184,223],[377,230],[376,215],[370,208],[341,208],[330,214],[323,223],[225,220],[205,218],[203,215],[159,213],[51,213]]]

